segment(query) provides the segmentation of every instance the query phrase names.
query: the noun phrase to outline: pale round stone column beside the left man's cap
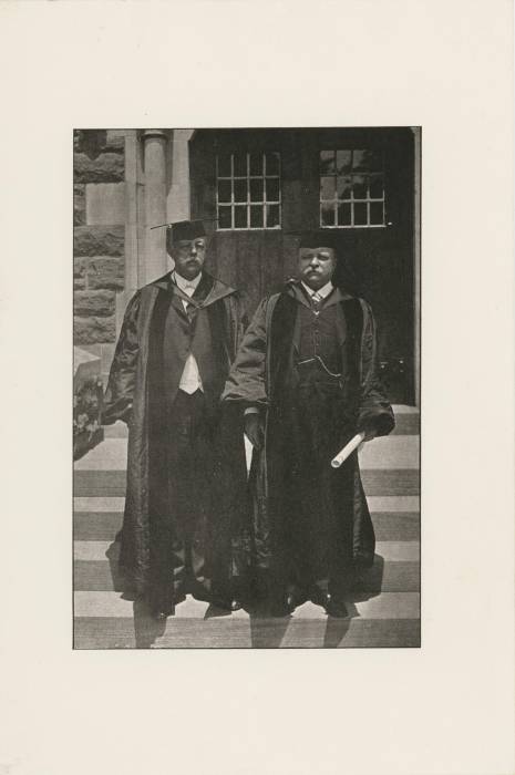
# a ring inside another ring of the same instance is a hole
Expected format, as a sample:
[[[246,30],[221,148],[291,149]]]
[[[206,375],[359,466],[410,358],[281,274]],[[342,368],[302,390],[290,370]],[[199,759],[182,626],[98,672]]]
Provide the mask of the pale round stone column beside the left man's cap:
[[[165,130],[145,130],[143,165],[145,172],[145,256],[144,277],[140,285],[151,282],[168,269],[166,257],[166,229],[151,230],[152,226],[166,223],[166,149],[168,133]]]

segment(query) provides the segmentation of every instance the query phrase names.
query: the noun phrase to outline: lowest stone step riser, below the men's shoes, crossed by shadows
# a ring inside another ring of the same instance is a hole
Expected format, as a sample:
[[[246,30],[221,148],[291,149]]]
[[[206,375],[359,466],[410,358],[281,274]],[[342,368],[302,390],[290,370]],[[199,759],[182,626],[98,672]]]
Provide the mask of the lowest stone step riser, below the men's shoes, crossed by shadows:
[[[75,649],[384,649],[420,644],[418,618],[171,618],[164,624],[148,616],[130,616],[79,617],[74,622]]]

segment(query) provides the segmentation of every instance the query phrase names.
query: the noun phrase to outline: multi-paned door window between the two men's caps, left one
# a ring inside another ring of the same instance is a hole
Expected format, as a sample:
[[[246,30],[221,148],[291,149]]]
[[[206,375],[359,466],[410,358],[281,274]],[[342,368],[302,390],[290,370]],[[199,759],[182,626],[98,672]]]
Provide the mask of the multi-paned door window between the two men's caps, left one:
[[[276,151],[218,154],[218,230],[280,229],[280,155]]]

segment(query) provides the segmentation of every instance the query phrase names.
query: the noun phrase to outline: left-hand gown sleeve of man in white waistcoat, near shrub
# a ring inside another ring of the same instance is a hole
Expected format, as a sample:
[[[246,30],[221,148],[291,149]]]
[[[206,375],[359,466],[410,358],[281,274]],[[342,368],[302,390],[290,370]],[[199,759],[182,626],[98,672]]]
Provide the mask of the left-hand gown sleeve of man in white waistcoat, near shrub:
[[[117,420],[128,423],[132,412],[136,364],[140,353],[137,318],[140,292],[128,302],[122,330],[114,351],[113,362],[104,394],[102,424],[112,425]]]

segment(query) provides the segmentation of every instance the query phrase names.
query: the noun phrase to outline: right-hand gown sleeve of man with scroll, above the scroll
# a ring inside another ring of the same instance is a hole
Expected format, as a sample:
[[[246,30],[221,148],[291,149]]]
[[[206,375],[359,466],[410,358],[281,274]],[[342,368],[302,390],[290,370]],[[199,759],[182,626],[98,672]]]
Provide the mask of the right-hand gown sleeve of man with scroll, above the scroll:
[[[361,342],[361,400],[358,427],[375,436],[385,436],[394,427],[393,411],[379,376],[377,327],[372,310],[363,303]]]

